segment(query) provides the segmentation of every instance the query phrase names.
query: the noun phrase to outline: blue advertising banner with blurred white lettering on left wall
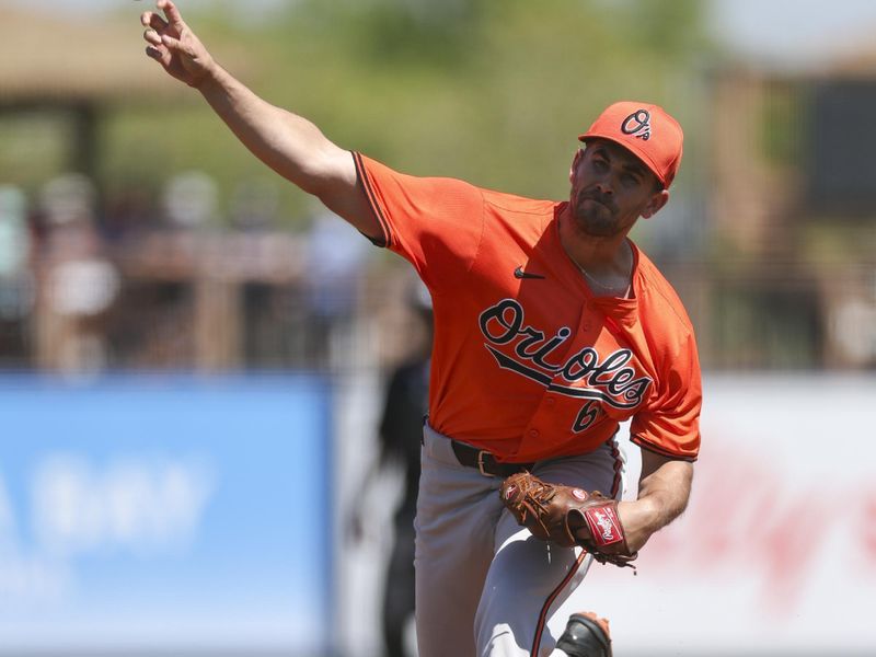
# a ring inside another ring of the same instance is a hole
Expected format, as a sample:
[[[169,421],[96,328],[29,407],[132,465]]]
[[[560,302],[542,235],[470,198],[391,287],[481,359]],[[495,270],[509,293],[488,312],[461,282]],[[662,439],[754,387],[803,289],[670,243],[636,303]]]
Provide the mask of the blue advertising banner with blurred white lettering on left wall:
[[[0,654],[324,654],[330,413],[303,376],[0,379]]]

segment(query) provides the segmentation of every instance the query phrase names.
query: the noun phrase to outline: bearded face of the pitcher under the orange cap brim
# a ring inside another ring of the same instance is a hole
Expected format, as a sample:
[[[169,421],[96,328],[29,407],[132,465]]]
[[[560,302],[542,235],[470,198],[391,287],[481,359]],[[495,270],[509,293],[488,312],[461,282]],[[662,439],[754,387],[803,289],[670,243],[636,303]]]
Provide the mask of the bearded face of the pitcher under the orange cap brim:
[[[588,235],[625,234],[639,217],[650,217],[669,199],[657,176],[625,148],[602,139],[575,155],[569,207]]]

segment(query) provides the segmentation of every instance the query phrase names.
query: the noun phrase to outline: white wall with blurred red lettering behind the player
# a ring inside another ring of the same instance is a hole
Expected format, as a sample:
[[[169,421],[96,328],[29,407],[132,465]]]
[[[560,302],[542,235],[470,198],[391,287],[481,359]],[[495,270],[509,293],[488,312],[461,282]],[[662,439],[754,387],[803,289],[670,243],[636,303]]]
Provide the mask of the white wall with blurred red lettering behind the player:
[[[583,585],[615,654],[876,654],[876,378],[711,376],[704,394],[689,509],[637,575],[597,564]],[[379,654],[376,560],[389,543],[372,532],[343,552],[351,656]]]

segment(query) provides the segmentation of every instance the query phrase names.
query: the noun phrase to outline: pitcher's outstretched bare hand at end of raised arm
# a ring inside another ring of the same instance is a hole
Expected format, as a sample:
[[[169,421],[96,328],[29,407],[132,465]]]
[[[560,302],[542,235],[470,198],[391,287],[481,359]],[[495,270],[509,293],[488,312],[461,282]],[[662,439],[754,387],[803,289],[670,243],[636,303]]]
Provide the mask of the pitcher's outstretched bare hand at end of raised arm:
[[[189,87],[198,87],[215,66],[212,57],[185,24],[171,0],[158,0],[155,4],[164,12],[164,18],[152,11],[146,11],[140,16],[140,22],[147,28],[143,32],[143,38],[149,44],[146,54],[177,80]]]

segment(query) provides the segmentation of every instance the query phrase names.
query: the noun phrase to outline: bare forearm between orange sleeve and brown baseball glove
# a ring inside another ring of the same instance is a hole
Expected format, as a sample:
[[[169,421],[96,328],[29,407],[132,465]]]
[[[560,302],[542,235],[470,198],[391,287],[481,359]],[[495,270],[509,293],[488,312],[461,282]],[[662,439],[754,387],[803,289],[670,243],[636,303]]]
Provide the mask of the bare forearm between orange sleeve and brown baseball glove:
[[[642,450],[638,498],[618,507],[630,550],[639,550],[657,530],[681,515],[688,506],[693,464]]]

